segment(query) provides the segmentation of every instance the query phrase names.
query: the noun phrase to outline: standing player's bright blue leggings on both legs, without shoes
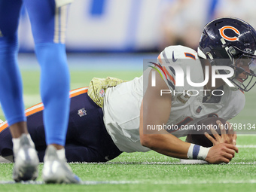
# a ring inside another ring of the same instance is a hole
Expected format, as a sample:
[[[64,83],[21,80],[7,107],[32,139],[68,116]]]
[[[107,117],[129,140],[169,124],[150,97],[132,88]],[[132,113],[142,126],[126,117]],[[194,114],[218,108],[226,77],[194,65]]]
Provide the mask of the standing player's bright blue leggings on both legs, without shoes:
[[[69,69],[65,38],[68,7],[54,0],[0,0],[0,101],[8,124],[25,121],[17,65],[17,28],[25,5],[41,66],[41,99],[47,144],[64,145],[69,115]],[[20,37],[22,38],[22,37]]]

